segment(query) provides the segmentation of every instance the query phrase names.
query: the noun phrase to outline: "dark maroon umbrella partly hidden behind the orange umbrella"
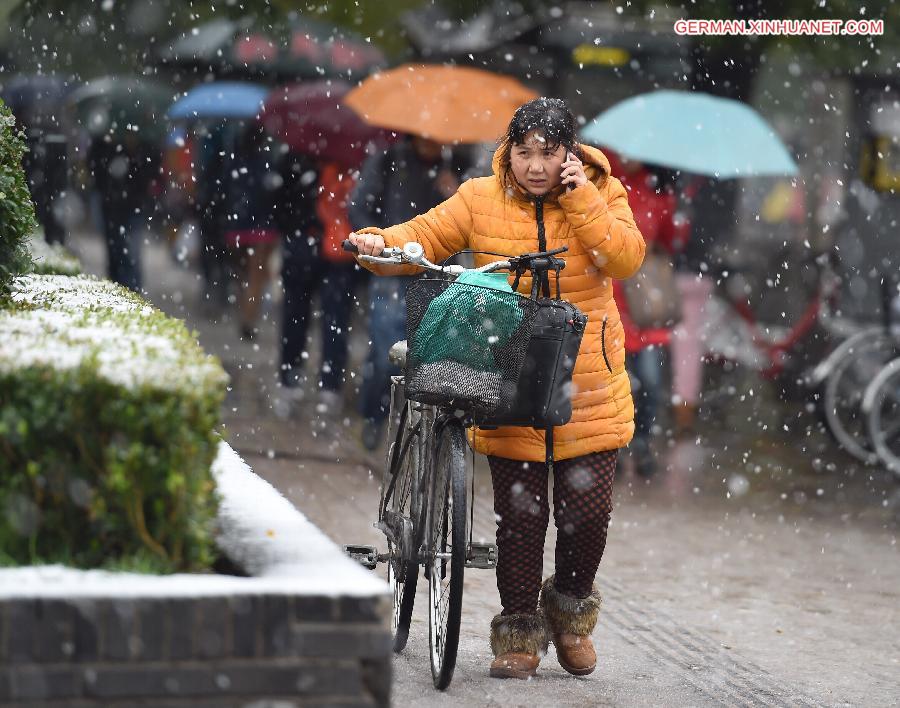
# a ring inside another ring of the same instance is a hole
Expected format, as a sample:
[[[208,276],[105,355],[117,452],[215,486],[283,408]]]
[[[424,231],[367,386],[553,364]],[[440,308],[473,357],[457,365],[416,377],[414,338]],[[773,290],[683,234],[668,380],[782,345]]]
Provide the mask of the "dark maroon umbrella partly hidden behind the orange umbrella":
[[[338,80],[276,88],[263,106],[263,127],[292,150],[358,167],[367,147],[383,147],[391,137],[341,103],[349,90],[350,84]]]

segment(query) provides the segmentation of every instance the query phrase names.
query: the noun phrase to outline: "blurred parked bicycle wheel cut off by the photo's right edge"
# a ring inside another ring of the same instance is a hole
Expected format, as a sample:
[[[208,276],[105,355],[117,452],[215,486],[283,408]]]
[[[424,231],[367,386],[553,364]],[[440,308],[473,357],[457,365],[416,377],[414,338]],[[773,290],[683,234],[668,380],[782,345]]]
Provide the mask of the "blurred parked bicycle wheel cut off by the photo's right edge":
[[[825,380],[823,394],[828,429],[841,448],[860,462],[872,464],[878,456],[868,435],[863,414],[863,392],[887,364],[897,356],[897,342],[884,332],[854,342]]]

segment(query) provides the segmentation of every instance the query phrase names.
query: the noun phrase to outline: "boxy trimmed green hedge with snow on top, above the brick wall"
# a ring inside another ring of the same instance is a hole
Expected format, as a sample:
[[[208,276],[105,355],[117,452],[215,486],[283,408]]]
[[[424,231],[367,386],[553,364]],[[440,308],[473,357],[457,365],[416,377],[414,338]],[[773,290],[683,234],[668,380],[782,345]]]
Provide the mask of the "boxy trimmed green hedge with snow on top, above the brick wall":
[[[226,383],[138,295],[20,278],[0,309],[0,563],[208,568]]]

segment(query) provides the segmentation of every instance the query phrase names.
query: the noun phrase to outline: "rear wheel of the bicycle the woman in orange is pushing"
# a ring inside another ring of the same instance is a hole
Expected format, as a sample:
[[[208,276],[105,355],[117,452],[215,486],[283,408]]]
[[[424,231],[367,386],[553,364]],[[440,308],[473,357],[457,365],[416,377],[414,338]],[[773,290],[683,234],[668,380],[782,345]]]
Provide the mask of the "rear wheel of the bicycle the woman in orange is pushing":
[[[387,582],[392,594],[391,633],[394,652],[403,651],[409,638],[419,564],[410,560],[415,547],[415,527],[411,523],[416,512],[413,503],[415,480],[419,473],[421,425],[412,420],[413,412],[404,405],[397,435],[388,452],[389,475],[381,502],[380,519],[393,532],[387,535],[389,560]]]

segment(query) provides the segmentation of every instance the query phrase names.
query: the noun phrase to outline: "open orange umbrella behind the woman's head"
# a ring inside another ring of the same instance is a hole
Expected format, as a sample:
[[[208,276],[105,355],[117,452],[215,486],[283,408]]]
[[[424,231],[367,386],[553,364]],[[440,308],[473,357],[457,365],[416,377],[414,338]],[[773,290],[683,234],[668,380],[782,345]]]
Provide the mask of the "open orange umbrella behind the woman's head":
[[[344,103],[371,125],[440,143],[493,141],[537,94],[515,79],[461,66],[415,65],[368,77]]]

